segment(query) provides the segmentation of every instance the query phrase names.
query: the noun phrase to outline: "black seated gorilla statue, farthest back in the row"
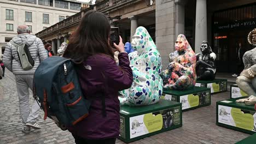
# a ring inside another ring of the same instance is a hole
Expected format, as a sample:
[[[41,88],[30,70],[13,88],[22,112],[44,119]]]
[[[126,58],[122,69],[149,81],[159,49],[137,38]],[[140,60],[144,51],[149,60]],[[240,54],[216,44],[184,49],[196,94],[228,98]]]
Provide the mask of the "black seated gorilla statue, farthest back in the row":
[[[214,61],[216,54],[212,52],[208,41],[203,41],[201,52],[196,54],[196,76],[197,80],[214,80],[216,67]]]

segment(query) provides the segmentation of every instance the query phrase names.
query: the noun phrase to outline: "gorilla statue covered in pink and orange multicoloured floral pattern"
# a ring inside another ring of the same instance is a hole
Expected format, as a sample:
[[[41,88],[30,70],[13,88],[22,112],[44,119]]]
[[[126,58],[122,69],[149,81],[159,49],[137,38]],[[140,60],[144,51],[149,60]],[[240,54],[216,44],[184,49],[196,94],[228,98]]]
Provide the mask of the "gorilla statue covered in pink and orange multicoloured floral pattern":
[[[196,80],[196,55],[191,49],[185,35],[178,35],[175,50],[169,55],[169,61],[171,63],[160,74],[164,81],[164,90],[182,90],[194,87]]]

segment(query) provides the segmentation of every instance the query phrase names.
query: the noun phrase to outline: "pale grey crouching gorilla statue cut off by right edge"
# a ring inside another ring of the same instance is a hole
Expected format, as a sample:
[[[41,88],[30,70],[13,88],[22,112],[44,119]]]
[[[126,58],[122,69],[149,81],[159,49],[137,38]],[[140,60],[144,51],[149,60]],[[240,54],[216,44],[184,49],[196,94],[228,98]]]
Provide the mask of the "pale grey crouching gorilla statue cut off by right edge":
[[[245,64],[245,69],[240,76],[236,77],[236,83],[242,91],[251,95],[251,97],[238,99],[236,102],[253,105],[256,104],[256,47],[243,55],[243,63]]]

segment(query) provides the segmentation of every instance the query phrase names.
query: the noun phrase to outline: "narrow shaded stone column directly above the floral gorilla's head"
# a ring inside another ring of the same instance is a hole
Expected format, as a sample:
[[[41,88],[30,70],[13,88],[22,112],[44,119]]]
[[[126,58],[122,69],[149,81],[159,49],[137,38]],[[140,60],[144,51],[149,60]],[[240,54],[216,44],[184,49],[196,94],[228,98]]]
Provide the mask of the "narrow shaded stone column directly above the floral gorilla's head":
[[[179,34],[185,34],[185,2],[183,0],[175,0],[176,9],[176,22],[175,22],[175,35],[178,37]]]

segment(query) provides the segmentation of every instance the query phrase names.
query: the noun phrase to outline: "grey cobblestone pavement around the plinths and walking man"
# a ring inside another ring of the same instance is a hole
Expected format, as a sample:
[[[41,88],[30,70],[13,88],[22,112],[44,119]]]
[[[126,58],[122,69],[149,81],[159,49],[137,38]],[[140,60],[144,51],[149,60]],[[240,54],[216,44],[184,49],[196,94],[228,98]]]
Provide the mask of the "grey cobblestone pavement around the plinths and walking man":
[[[62,131],[49,118],[43,121],[40,113],[40,130],[22,133],[14,75],[8,70],[0,80],[0,143],[74,143],[68,131]],[[1,94],[1,85],[3,94]],[[1,96],[2,95],[2,96]],[[229,99],[229,92],[212,95],[212,104],[183,112],[183,126],[132,143],[235,143],[248,134],[216,125],[216,101]],[[31,95],[32,100],[32,95]],[[117,140],[118,144],[124,143]]]

